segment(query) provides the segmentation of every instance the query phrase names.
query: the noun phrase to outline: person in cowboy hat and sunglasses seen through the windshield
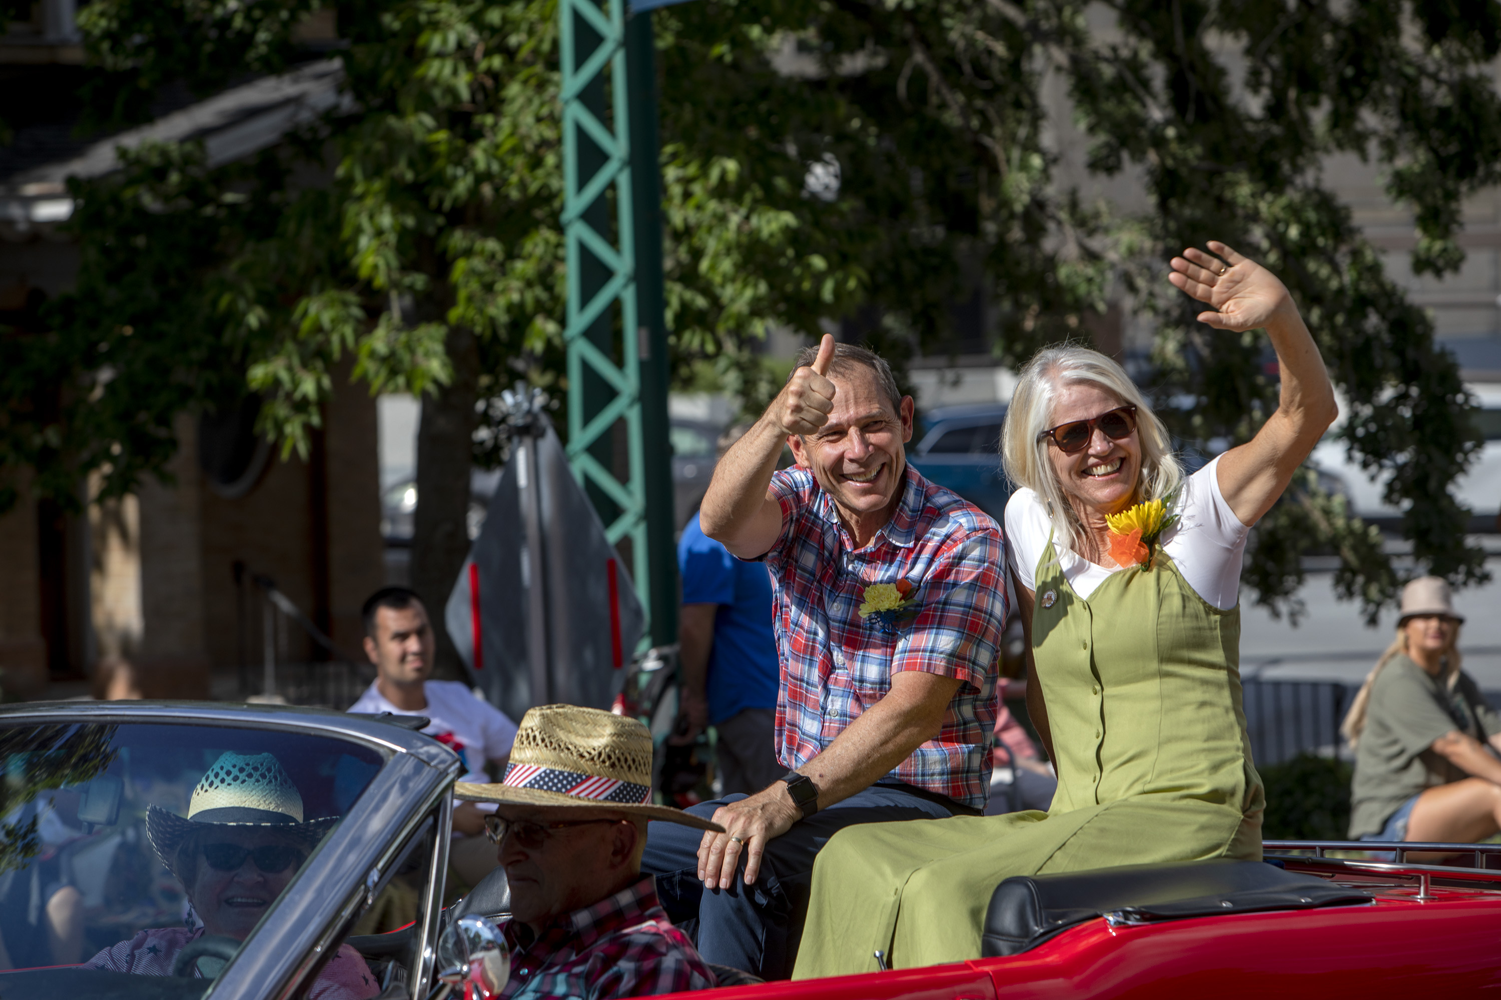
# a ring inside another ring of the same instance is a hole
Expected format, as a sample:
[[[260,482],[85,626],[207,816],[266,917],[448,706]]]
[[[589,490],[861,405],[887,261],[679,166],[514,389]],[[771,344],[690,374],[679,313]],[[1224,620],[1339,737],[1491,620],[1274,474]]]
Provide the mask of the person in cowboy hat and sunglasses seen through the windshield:
[[[305,819],[302,795],[273,754],[221,754],[194,789],[186,817],[156,805],[146,810],[152,850],[182,882],[201,925],[140,931],[84,967],[170,976],[189,942],[243,942],[335,823],[338,817]],[[308,996],[365,1000],[377,993],[365,960],[344,945]]]

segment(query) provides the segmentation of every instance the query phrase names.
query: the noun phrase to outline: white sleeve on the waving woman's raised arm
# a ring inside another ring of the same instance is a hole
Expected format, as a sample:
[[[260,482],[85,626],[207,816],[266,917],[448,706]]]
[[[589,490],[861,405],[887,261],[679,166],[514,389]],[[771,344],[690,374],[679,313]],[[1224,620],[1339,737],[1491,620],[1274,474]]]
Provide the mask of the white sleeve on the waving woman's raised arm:
[[[1220,493],[1219,460],[1216,456],[1184,480],[1178,523],[1162,547],[1199,597],[1228,612],[1240,600],[1240,567],[1250,528],[1240,523]]]

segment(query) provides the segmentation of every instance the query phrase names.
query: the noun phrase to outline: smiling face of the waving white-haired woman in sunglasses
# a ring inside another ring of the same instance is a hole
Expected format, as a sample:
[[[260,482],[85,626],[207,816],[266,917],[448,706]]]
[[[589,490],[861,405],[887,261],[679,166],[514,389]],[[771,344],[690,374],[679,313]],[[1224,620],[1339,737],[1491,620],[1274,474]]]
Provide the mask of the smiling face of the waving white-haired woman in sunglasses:
[[[1124,400],[1093,382],[1066,382],[1057,388],[1048,426],[1093,420],[1124,405]],[[1117,514],[1130,507],[1141,478],[1139,430],[1111,441],[1096,427],[1088,447],[1073,454],[1049,442],[1048,459],[1064,495],[1081,513],[1096,517]]]

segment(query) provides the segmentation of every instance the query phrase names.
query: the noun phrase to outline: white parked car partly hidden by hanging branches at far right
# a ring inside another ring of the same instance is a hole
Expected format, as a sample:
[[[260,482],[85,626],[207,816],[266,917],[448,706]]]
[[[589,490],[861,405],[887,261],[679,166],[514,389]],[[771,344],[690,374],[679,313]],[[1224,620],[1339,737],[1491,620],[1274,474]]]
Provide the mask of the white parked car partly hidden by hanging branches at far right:
[[[1469,508],[1471,531],[1501,531],[1501,384],[1474,382],[1466,385],[1480,402],[1475,418],[1484,436],[1484,447],[1469,471],[1453,484],[1454,498]],[[1337,426],[1336,426],[1337,427]],[[1331,430],[1313,448],[1313,466],[1321,474],[1325,489],[1342,492],[1351,511],[1358,517],[1384,526],[1396,526],[1402,510],[1382,498],[1388,477],[1372,475],[1348,454],[1348,445]]]

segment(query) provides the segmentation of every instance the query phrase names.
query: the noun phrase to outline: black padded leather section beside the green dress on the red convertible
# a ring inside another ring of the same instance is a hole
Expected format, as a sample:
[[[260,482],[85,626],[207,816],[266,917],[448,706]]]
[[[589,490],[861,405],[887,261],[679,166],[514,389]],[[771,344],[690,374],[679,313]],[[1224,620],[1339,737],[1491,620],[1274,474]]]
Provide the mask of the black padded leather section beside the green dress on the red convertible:
[[[1190,916],[1309,910],[1370,903],[1370,895],[1259,861],[1130,865],[1060,876],[1018,876],[995,888],[980,954],[1018,955],[1084,921],[1130,924]]]

